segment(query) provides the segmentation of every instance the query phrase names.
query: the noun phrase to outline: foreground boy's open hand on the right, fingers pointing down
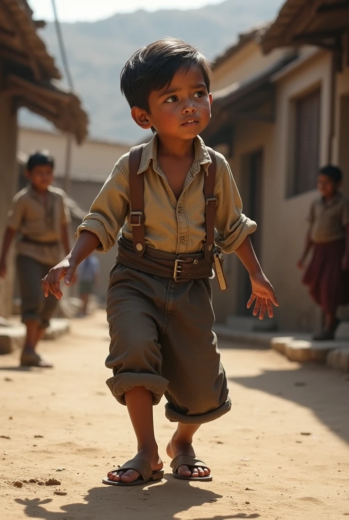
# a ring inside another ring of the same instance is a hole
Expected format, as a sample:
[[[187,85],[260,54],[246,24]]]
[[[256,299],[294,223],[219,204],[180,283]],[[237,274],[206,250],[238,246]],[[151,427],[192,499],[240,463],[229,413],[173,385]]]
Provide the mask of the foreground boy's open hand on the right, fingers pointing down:
[[[253,309],[253,316],[257,316],[259,313],[259,319],[262,320],[267,310],[268,316],[273,318],[273,304],[275,307],[278,307],[279,302],[275,296],[272,284],[266,278],[263,271],[259,271],[256,275],[250,275],[250,280],[252,285],[252,294],[247,302],[247,308],[249,309],[253,302],[256,301]]]

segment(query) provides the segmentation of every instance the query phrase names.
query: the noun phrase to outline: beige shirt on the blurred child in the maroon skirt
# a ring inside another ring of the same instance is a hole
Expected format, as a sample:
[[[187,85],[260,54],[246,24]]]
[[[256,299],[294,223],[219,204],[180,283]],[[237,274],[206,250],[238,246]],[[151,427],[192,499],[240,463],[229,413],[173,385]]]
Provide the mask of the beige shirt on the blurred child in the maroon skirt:
[[[340,192],[329,202],[322,197],[316,199],[311,206],[308,222],[311,224],[313,242],[345,238],[345,228],[349,224],[349,201]]]

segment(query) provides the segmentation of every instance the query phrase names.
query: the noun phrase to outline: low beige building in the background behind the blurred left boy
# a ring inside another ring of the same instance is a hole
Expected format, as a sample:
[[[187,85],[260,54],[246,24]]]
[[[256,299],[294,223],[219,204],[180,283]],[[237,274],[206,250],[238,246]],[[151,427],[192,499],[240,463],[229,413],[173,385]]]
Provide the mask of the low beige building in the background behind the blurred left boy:
[[[69,179],[66,179],[65,152],[66,136],[61,132],[49,132],[38,128],[20,127],[18,133],[19,159],[34,150],[47,149],[56,160],[55,185],[65,189],[70,201],[74,201],[71,213],[72,242],[82,218],[101,190],[105,180],[111,173],[117,160],[129,151],[129,145],[103,139],[87,138],[81,146],[73,143],[71,149],[71,165]],[[76,206],[77,205],[77,206]],[[77,211],[76,211],[77,210]],[[98,254],[100,261],[100,283],[96,287],[96,295],[105,301],[108,288],[109,271],[115,262],[116,250]],[[72,288],[72,294],[77,287]]]

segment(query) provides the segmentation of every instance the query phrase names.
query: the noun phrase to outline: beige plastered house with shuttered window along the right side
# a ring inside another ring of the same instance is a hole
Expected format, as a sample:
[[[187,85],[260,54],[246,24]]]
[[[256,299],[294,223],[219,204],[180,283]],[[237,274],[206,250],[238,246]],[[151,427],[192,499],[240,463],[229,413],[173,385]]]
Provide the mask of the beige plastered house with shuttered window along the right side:
[[[277,326],[314,330],[321,314],[296,264],[318,167],[341,166],[349,196],[349,2],[288,0],[274,23],[241,35],[213,72],[203,137],[227,155],[244,210],[258,220],[253,243],[280,299]],[[216,294],[221,322],[246,316],[250,291],[236,258],[226,263],[235,291]]]

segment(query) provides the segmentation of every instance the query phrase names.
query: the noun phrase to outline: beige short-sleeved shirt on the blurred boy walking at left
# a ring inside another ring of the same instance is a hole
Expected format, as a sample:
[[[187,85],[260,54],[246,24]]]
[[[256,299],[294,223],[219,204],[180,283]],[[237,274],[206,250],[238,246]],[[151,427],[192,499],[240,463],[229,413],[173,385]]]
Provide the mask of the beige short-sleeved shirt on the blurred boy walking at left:
[[[53,186],[48,187],[45,198],[41,197],[31,185],[15,195],[8,212],[8,226],[18,231],[22,237],[33,240],[33,242],[25,242],[20,239],[17,243],[17,254],[29,256],[48,266],[59,262],[62,256],[60,243],[62,224],[70,222],[70,213],[65,199],[64,191]],[[47,245],[53,242],[57,244]]]

